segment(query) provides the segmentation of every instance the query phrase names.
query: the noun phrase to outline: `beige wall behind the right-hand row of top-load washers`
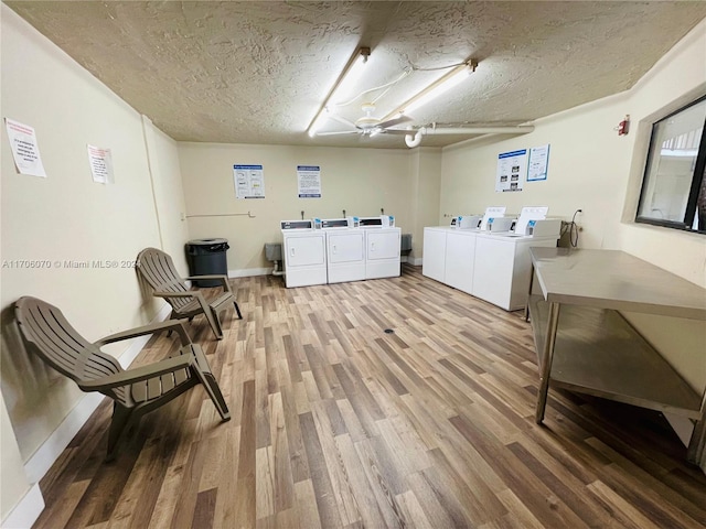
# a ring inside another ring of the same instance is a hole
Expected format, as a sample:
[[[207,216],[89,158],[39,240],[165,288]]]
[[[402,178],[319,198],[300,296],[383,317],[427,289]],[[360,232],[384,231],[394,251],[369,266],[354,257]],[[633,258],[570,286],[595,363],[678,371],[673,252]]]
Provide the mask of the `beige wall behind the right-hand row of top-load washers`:
[[[612,130],[622,115],[624,96],[589,104],[536,123],[530,134],[477,147],[443,150],[440,224],[443,215],[482,214],[488,206],[549,206],[549,215],[577,220],[584,228],[580,246],[609,247],[620,218],[621,194],[629,169],[631,142]],[[550,144],[546,181],[527,182],[522,192],[496,193],[498,154]],[[617,195],[617,190],[621,193]],[[612,242],[614,247],[614,242]]]

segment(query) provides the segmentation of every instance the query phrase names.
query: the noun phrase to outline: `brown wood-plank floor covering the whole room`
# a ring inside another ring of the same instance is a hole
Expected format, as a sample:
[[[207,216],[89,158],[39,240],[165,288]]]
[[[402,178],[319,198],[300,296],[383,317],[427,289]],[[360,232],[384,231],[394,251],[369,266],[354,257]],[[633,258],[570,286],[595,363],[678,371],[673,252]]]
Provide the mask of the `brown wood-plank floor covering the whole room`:
[[[535,424],[522,313],[408,266],[233,287],[222,342],[190,325],[233,419],[195,388],[104,463],[105,401],[41,482],[36,528],[706,526],[706,476],[660,414],[550,389]],[[153,337],[136,365],[174,348]]]

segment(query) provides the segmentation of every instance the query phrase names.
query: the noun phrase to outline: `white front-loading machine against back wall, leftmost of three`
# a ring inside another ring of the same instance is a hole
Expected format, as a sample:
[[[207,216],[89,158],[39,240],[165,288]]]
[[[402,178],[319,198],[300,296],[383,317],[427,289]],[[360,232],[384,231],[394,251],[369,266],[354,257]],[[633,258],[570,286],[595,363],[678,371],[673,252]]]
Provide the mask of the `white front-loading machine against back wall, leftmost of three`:
[[[312,220],[282,220],[287,288],[327,284],[327,235]]]

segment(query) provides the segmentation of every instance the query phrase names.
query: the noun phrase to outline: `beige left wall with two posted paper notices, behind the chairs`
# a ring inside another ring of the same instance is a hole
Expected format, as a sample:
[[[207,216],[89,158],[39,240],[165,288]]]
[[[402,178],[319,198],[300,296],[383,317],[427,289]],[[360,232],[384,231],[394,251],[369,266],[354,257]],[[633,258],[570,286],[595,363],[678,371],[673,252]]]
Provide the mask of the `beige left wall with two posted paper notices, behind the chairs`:
[[[147,323],[160,304],[142,298],[135,270],[92,263],[132,261],[141,248],[160,246],[158,209],[164,247],[183,245],[186,229],[180,220],[183,192],[175,142],[142,123],[138,112],[4,4],[1,10],[2,117],[34,127],[49,176],[18,174],[3,125],[0,376],[17,439],[14,443],[6,434],[3,422],[4,518],[26,489],[23,464],[84,399],[73,382],[24,350],[12,303],[21,295],[52,302],[88,339]],[[87,143],[111,149],[115,184],[93,182]],[[154,148],[149,155],[147,144]],[[8,264],[17,260],[51,267]],[[77,269],[67,261],[89,264]],[[109,350],[120,357],[128,345]]]

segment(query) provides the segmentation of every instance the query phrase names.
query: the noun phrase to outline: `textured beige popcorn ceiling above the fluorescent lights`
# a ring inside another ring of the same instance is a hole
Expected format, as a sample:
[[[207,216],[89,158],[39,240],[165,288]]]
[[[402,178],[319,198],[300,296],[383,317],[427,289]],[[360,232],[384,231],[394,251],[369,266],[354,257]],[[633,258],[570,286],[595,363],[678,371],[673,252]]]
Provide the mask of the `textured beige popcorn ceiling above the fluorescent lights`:
[[[472,57],[415,125],[516,125],[630,88],[706,17],[693,1],[6,3],[175,140],[382,148],[404,137],[306,133],[359,46],[357,93],[413,71],[336,108],[345,119],[373,98],[382,118],[445,73],[431,68]]]

